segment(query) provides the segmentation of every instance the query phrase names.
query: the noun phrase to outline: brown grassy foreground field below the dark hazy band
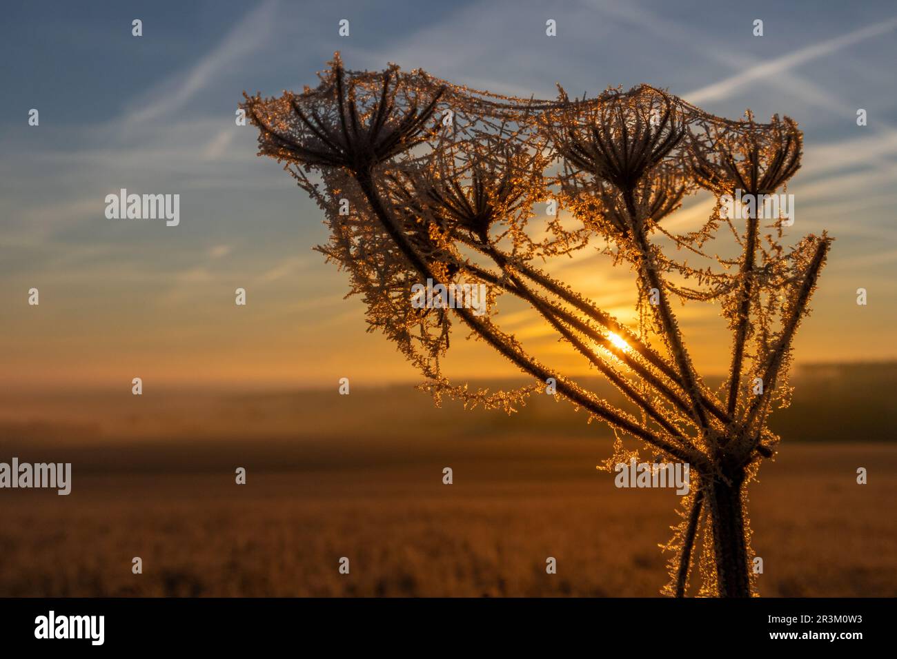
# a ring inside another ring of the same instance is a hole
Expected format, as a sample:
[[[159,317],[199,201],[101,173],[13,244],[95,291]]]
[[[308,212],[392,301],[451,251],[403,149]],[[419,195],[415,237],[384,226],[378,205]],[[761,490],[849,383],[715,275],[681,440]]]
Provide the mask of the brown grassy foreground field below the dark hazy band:
[[[500,470],[458,459],[450,486],[433,460],[250,470],[245,486],[222,470],[95,474],[69,497],[8,492],[0,595],[657,594],[675,495],[616,490],[570,448]],[[868,485],[855,464],[872,466]],[[761,593],[897,594],[895,494],[893,447],[789,447],[752,490]]]

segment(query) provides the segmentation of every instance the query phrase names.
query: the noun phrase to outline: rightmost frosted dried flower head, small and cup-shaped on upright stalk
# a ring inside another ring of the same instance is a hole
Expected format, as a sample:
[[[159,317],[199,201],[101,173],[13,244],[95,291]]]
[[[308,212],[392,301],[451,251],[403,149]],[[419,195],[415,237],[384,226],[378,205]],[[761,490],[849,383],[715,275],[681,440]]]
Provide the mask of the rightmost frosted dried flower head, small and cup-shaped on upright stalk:
[[[770,195],[800,169],[804,138],[789,117],[759,126],[753,117],[734,126],[698,125],[689,153],[695,182],[717,195],[742,190]]]

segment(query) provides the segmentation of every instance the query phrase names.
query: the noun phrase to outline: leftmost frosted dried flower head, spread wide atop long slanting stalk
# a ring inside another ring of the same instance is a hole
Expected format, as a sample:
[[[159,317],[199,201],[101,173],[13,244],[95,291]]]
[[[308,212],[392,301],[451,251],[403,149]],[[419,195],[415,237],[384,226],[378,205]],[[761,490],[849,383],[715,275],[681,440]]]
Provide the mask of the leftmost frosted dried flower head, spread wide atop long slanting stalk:
[[[383,72],[379,90],[345,82],[335,59],[317,90],[285,93],[280,102],[248,97],[248,116],[259,126],[261,152],[277,160],[317,167],[344,167],[367,174],[381,162],[426,140],[426,127],[442,91],[423,94]],[[396,96],[401,95],[401,109]]]

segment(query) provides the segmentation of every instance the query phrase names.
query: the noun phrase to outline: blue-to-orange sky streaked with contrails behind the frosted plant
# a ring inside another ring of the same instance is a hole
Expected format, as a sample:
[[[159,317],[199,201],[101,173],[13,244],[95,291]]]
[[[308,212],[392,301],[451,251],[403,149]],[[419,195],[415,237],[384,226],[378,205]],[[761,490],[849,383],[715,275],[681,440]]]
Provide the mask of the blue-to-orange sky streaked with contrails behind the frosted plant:
[[[132,35],[132,21],[143,36]],[[338,35],[338,22],[350,35]],[[545,36],[545,22],[557,36]],[[763,36],[752,34],[763,21]],[[452,82],[553,98],[641,82],[716,115],[794,117],[794,231],[837,238],[797,362],[897,357],[897,5],[893,2],[32,2],[4,7],[0,386],[330,386],[414,371],[344,299],[312,247],[318,209],[237,126],[242,92],[395,62]],[[29,126],[30,109],[39,126]],[[857,126],[858,108],[867,126]],[[180,223],[110,220],[105,197],[180,195]],[[679,226],[709,202],[689,202]],[[598,256],[565,276],[624,314],[631,278]],[[39,305],[28,305],[30,288]],[[245,307],[234,290],[247,290]],[[856,303],[858,288],[868,304]],[[686,310],[703,372],[726,368],[714,309]],[[539,327],[510,327],[544,350]],[[560,349],[559,349],[560,355]],[[559,356],[559,359],[568,359]],[[570,369],[574,367],[570,363]],[[516,371],[476,346],[456,377]]]

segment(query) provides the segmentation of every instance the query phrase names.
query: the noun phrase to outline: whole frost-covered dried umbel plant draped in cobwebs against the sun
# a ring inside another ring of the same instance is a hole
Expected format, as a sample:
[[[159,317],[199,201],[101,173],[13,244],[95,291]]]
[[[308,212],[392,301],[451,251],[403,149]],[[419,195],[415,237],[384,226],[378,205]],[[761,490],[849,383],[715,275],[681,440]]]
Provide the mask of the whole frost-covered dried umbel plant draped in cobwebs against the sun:
[[[282,161],[325,213],[331,238],[318,249],[349,273],[369,329],[396,343],[437,403],[450,395],[512,412],[556,383],[557,395],[614,429],[608,468],[637,457],[633,446],[691,465],[664,592],[684,595],[697,565],[699,594],[755,594],[747,484],[779,442],[767,419],[788,403],[792,344],[831,238],[787,247],[783,221],[734,220],[719,200],[786,184],[802,151],[792,120],[730,121],[646,85],[593,99],[509,98],[395,65],[347,72],[338,54],[317,88],[246,97],[243,108],[260,154]],[[718,200],[701,228],[667,228],[701,188]],[[546,214],[549,202],[563,212]],[[597,262],[631,271],[635,326],[551,273],[588,245]],[[419,308],[412,287],[427,280],[486,284],[487,312]],[[613,383],[625,409],[503,331],[496,311],[508,297]],[[675,301],[718,305],[727,321],[731,367],[718,390],[694,367]],[[534,384],[453,385],[440,363],[455,328]]]

